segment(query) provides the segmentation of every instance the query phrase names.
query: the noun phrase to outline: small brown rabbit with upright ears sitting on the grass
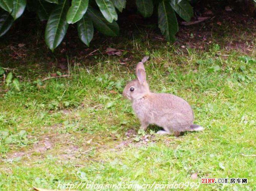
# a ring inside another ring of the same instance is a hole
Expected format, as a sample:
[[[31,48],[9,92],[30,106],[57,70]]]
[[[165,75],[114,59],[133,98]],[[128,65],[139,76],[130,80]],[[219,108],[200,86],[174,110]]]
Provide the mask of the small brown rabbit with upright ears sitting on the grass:
[[[201,131],[204,128],[193,124],[194,114],[190,105],[182,98],[169,93],[153,93],[146,81],[144,57],[136,66],[137,79],[129,82],[122,93],[131,100],[132,108],[140,119],[140,129],[146,131],[148,125],[163,127],[157,134],[179,136],[181,132]]]

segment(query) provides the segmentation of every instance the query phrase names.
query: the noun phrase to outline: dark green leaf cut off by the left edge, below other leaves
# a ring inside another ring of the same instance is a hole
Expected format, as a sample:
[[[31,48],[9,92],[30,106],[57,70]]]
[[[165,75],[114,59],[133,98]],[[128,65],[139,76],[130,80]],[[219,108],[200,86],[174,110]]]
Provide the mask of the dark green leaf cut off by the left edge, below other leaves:
[[[0,37],[12,26],[13,17],[6,11],[0,11]]]

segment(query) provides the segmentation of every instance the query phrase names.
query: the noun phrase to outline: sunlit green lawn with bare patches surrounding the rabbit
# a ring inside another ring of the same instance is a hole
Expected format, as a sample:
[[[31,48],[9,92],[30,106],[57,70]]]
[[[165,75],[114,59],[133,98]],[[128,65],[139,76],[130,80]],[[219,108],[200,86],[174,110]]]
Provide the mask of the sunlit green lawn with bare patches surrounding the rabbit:
[[[147,49],[133,43],[132,51],[140,54],[129,65],[104,55],[91,59],[91,66],[70,64],[70,78],[44,82],[37,65],[14,71],[22,75],[21,91],[3,86],[9,91],[0,96],[0,190],[86,181],[256,189],[255,50],[226,52],[214,44],[197,51],[164,42]],[[145,68],[151,90],[186,99],[203,132],[157,136],[151,126],[127,137],[140,124],[121,92],[143,55],[150,56]],[[248,183],[200,184],[201,178],[248,178]]]

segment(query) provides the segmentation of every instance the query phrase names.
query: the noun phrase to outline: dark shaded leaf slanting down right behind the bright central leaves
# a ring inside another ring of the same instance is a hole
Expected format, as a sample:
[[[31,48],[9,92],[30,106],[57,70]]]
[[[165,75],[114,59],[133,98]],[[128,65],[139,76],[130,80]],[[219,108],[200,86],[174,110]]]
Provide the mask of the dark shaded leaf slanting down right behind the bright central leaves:
[[[92,7],[89,7],[88,15],[91,18],[93,25],[100,33],[112,37],[119,34],[118,24],[115,21],[113,21],[113,23],[109,23],[99,11],[96,11]]]

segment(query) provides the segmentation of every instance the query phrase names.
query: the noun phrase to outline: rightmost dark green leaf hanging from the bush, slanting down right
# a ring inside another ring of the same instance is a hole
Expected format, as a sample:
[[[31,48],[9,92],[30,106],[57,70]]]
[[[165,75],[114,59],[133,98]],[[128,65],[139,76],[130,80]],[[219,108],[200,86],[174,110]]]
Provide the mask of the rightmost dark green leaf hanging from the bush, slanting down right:
[[[170,3],[175,12],[185,21],[190,21],[191,17],[193,17],[193,7],[187,0],[181,0],[179,3],[177,0],[171,0]]]

